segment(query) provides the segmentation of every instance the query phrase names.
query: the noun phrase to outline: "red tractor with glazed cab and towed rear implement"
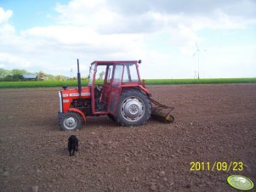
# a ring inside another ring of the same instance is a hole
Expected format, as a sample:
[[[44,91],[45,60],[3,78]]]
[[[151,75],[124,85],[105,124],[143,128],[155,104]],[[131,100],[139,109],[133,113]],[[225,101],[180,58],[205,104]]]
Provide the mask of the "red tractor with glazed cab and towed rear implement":
[[[170,111],[174,108],[151,99],[141,83],[140,60],[94,61],[89,70],[88,87],[81,87],[77,59],[78,88],[59,91],[59,124],[62,130],[76,130],[87,116],[107,115],[122,126],[143,125],[150,116],[174,121]],[[96,83],[98,82],[98,83]],[[152,104],[156,107],[152,108]],[[163,114],[162,109],[168,109]]]

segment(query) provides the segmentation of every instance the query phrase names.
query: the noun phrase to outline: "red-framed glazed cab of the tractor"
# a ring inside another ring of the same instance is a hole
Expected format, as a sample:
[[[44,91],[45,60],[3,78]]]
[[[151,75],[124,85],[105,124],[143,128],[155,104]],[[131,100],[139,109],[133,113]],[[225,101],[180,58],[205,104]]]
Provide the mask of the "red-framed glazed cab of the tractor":
[[[139,85],[137,61],[94,61],[88,76],[93,114],[115,116],[122,88]]]

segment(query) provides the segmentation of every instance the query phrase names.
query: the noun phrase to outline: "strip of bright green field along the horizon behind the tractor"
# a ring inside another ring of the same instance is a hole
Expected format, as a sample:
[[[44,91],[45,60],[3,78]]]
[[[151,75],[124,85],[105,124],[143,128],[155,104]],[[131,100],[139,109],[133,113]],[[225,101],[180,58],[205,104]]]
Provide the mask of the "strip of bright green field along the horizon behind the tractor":
[[[256,78],[216,78],[216,79],[146,79],[145,85],[172,85],[172,84],[219,84],[219,83],[246,83],[256,82]],[[82,81],[82,86],[87,85]],[[0,82],[0,88],[49,88],[76,87],[77,81],[32,81],[32,82]]]

